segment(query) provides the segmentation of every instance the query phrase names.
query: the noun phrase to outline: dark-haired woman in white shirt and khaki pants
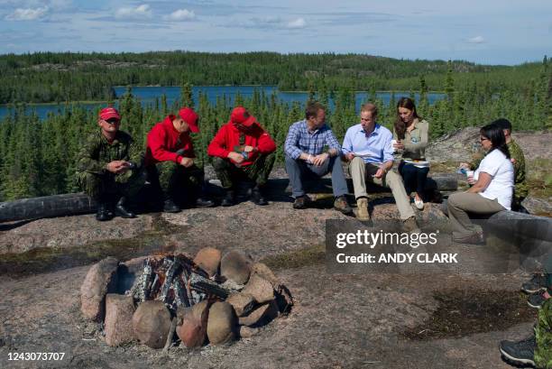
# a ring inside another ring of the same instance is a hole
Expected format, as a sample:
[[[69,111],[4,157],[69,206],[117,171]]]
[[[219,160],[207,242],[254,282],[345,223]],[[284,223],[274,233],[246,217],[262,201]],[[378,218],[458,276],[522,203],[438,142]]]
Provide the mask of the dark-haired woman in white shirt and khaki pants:
[[[487,154],[474,173],[474,186],[450,195],[446,204],[453,240],[463,244],[483,243],[467,212],[490,216],[511,208],[514,171],[504,133],[498,125],[485,125],[479,140]]]

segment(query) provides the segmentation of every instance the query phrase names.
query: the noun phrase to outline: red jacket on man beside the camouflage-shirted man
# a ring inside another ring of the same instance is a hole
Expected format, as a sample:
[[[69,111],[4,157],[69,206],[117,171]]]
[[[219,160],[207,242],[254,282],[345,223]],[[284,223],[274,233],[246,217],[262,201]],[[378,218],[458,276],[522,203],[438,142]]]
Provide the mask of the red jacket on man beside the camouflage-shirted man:
[[[174,129],[172,125],[174,118],[174,115],[169,115],[161,123],[153,125],[148,134],[148,147],[145,156],[146,166],[160,161],[179,163],[184,157],[196,157],[189,132],[180,134],[179,131]],[[177,153],[179,150],[183,150],[183,152]]]

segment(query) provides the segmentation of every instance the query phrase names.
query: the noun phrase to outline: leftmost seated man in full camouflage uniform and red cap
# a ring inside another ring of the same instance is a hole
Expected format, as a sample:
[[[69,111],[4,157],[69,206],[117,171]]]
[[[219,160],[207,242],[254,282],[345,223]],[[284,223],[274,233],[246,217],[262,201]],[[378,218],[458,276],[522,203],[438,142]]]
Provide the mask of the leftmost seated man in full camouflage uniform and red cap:
[[[87,137],[78,153],[77,182],[87,195],[97,201],[99,221],[114,217],[136,217],[126,208],[145,181],[143,154],[133,138],[119,131],[121,116],[114,107],[99,112],[100,129]],[[117,200],[118,198],[118,200]]]

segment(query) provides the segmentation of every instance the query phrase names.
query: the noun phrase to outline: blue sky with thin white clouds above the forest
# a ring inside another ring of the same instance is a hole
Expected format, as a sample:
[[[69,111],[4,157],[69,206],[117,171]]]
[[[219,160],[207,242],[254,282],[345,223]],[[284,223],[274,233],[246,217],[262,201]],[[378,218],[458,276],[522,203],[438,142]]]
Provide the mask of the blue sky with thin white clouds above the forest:
[[[0,53],[357,52],[519,64],[552,55],[552,0],[0,0]]]

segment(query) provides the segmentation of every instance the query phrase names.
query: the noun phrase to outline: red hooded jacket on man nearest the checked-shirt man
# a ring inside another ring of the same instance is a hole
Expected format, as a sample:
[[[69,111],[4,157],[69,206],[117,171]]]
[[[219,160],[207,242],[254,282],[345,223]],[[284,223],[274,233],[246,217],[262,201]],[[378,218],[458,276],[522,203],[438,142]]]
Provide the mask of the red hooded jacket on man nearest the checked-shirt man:
[[[227,159],[229,152],[235,151],[235,146],[240,144],[240,131],[232,122],[228,122],[220,129],[209,143],[207,154],[209,156],[218,156]],[[276,150],[276,143],[260,125],[253,124],[251,129],[245,133],[245,146],[257,148],[258,153],[271,153]],[[256,153],[250,153],[249,159],[242,161],[242,165],[250,165],[255,159]]]

